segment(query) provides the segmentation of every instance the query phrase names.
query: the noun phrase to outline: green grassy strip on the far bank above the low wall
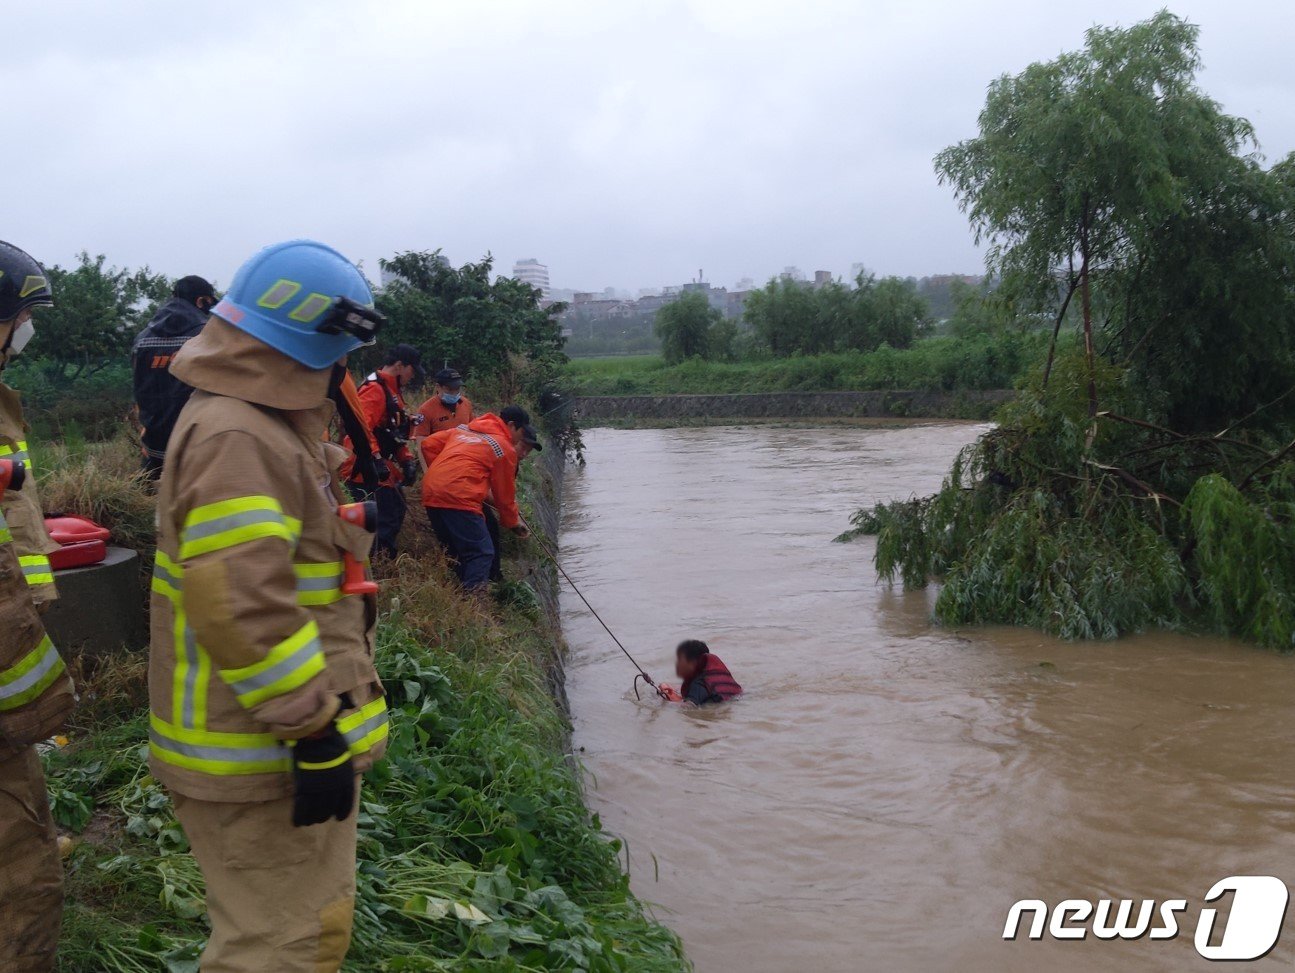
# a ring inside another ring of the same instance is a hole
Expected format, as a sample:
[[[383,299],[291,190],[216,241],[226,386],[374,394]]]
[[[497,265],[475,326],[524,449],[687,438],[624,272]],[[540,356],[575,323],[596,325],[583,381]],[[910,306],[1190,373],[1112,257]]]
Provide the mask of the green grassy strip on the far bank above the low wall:
[[[904,350],[679,365],[658,355],[585,358],[572,359],[563,377],[576,395],[1010,389],[1041,356],[1044,341],[1039,334],[939,337]]]

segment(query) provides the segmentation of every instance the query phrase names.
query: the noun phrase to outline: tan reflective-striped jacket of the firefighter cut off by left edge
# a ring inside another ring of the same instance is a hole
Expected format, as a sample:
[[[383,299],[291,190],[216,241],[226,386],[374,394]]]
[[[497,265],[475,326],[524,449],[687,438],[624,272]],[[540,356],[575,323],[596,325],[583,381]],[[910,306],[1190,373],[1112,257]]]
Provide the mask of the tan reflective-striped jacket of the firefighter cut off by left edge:
[[[75,702],[73,681],[40,623],[38,605],[52,601],[49,539],[36,496],[18,393],[0,385],[0,459],[27,465],[22,490],[0,500],[0,758],[47,740]]]

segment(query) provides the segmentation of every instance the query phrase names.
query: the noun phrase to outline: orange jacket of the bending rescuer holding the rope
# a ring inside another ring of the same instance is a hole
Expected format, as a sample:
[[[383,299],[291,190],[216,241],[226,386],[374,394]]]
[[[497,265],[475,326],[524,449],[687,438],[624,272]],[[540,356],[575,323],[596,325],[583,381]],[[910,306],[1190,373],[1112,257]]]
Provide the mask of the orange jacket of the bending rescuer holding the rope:
[[[493,495],[500,523],[522,522],[517,509],[517,450],[508,425],[492,412],[467,429],[447,429],[421,443],[427,472],[422,478],[422,505],[449,510],[482,512]]]

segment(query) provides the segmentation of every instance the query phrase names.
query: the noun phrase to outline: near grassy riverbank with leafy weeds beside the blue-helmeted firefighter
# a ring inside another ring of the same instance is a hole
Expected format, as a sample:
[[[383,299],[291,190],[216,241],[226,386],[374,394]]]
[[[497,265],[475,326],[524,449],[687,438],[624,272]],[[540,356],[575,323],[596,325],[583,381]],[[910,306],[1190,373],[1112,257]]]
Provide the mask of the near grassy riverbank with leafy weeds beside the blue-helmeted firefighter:
[[[79,509],[93,495],[110,526],[141,534],[146,494],[128,475],[127,443],[36,459],[62,464],[47,504]],[[530,470],[531,501],[544,486]],[[378,669],[392,736],[365,783],[346,969],[688,969],[677,938],[629,893],[619,843],[591,818],[566,755],[561,636],[536,593],[548,569],[531,545],[514,549],[510,574],[528,578],[486,612],[448,583],[421,527],[411,517],[417,556],[383,579]],[[70,744],[47,759],[56,816],[75,841],[63,973],[196,973],[206,938],[201,876],[144,763],[145,671],[142,652],[82,671]]]

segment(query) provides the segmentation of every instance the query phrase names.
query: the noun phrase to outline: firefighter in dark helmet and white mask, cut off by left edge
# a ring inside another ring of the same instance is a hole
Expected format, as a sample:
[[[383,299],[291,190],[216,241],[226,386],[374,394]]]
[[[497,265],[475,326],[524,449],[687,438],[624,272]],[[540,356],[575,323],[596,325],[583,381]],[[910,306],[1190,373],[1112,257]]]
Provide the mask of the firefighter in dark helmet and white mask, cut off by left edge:
[[[52,303],[40,264],[0,242],[0,368],[31,339],[32,308]],[[57,544],[45,532],[25,437],[18,393],[0,385],[0,970],[48,973],[63,880],[35,744],[58,731],[76,697],[40,623],[39,606],[54,599],[48,555]]]

